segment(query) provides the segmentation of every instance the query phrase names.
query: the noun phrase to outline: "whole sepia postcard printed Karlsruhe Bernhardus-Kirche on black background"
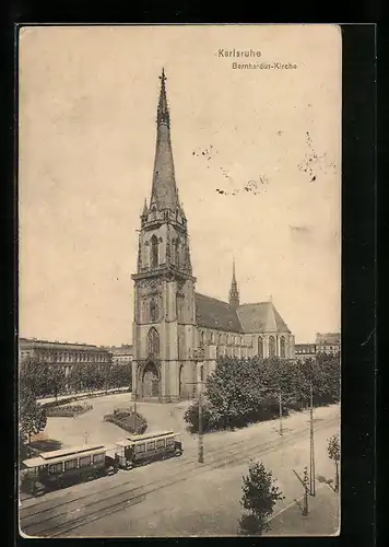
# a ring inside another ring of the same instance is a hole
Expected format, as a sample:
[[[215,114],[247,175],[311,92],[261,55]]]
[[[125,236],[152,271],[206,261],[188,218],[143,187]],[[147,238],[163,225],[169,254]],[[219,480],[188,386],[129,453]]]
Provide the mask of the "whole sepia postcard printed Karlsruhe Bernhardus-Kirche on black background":
[[[20,28],[24,537],[339,534],[341,43]]]

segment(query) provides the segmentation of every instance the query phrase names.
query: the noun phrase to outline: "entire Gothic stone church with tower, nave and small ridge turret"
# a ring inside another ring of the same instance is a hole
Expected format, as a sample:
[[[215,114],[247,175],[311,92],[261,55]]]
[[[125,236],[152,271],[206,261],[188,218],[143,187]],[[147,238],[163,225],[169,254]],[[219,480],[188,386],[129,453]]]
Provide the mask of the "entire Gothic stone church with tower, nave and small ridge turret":
[[[166,77],[162,71],[150,202],[140,217],[134,282],[132,395],[197,396],[220,356],[294,357],[294,336],[272,302],[240,304],[233,265],[228,302],[196,292],[188,222],[175,178]]]

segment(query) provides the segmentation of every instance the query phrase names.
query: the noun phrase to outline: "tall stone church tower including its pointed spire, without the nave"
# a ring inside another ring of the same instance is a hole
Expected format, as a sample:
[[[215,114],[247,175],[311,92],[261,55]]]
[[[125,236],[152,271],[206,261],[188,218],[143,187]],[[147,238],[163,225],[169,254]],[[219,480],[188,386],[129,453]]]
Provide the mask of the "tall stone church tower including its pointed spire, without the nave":
[[[193,391],[194,282],[187,219],[179,202],[162,70],[150,202],[144,201],[134,281],[132,394],[178,400]]]

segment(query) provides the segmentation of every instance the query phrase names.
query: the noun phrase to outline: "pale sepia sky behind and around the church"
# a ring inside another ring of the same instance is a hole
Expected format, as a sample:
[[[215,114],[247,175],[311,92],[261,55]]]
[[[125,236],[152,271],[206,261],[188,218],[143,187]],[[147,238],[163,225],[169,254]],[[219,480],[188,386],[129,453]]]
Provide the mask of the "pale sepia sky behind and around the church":
[[[339,330],[339,27],[36,26],[20,34],[20,336],[131,342],[162,67],[196,290],[227,300],[235,257],[240,302],[272,299],[296,342]]]

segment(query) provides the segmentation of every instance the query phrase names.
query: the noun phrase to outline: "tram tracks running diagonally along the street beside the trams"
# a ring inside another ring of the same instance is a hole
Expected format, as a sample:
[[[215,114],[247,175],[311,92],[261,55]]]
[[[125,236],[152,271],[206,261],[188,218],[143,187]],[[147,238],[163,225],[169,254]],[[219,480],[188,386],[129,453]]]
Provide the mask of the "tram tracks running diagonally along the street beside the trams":
[[[316,429],[320,430],[337,422],[338,418],[323,420],[322,423],[318,423],[316,426]],[[207,470],[222,468],[227,465],[238,465],[247,462],[247,458],[250,455],[254,457],[266,455],[308,435],[309,430],[300,428],[285,437],[280,435],[276,440],[270,440],[264,443],[246,444],[246,447],[244,449],[241,447],[243,441],[234,441],[227,445],[224,443],[223,446],[216,446],[215,449],[211,449],[207,452],[208,459],[204,464],[198,464],[196,458],[187,459],[185,462],[180,461],[179,469],[170,468],[169,473],[165,474],[163,478],[151,480],[131,489],[126,488],[126,486],[131,482],[131,478],[129,478],[125,485],[121,482],[120,485],[115,485],[109,489],[106,489],[105,493],[109,492],[109,494],[104,496],[104,499],[95,500],[93,498],[97,494],[97,492],[89,492],[72,500],[61,500],[61,503],[57,505],[52,505],[51,503],[50,507],[42,508],[42,504],[38,503],[36,505],[32,505],[31,508],[25,508],[33,509],[37,507],[38,510],[28,512],[27,514],[25,514],[24,511],[24,514],[21,514],[21,528],[23,533],[28,536],[58,537],[85,524],[90,524],[91,522],[102,517],[126,510],[128,507],[141,503],[150,493],[188,480],[193,476],[193,474],[197,475]],[[237,445],[240,445],[240,447],[238,449]],[[233,446],[236,447],[231,450]],[[226,450],[228,451],[227,454]],[[254,451],[256,452],[254,453]],[[221,452],[223,452],[222,457],[217,456]],[[120,489],[120,491],[118,491],[118,489]],[[89,499],[91,499],[91,502],[86,503]],[[80,507],[80,501],[82,500],[84,500],[85,503]],[[47,500],[47,503],[49,504],[50,501]],[[71,504],[79,504],[79,507],[72,509]],[[23,510],[21,513],[23,513]],[[42,516],[42,520],[37,521],[38,516]]]

